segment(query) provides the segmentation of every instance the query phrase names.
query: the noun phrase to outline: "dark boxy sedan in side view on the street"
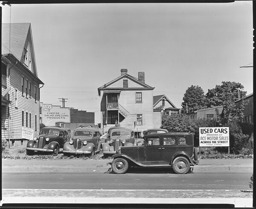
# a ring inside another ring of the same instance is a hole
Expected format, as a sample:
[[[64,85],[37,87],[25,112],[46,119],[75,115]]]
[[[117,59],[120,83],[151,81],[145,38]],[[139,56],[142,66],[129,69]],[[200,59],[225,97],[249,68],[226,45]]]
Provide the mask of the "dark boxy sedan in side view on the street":
[[[121,147],[112,156],[113,173],[123,174],[129,167],[172,167],[175,173],[186,174],[198,162],[193,134],[149,134],[144,140],[144,145]]]

